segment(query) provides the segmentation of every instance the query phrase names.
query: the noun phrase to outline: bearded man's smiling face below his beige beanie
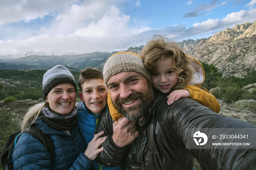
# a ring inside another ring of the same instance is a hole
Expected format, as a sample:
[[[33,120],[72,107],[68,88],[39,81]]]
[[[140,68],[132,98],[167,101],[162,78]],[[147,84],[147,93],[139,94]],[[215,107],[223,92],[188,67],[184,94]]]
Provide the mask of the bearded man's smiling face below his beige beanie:
[[[140,120],[150,108],[153,93],[147,81],[136,72],[122,72],[109,78],[108,87],[114,107],[131,121]]]

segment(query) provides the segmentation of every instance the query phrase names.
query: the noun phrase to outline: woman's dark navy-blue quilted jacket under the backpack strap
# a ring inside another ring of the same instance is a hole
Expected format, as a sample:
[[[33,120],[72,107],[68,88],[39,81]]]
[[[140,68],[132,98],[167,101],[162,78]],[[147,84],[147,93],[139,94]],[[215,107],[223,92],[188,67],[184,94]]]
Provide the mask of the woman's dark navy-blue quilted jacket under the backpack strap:
[[[37,119],[36,126],[52,138],[54,162],[52,163],[50,153],[38,139],[24,133],[20,136],[12,154],[15,170],[52,170],[53,168],[56,170],[90,170],[93,162],[84,155],[87,144],[77,125],[70,130],[72,136],[50,127],[40,118]]]

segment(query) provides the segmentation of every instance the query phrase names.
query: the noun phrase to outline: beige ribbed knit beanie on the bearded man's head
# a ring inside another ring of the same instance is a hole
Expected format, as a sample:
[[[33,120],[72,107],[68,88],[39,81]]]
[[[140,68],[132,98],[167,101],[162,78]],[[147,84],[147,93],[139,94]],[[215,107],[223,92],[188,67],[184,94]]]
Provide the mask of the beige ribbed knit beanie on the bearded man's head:
[[[146,77],[151,83],[151,75],[148,69],[144,66],[142,58],[130,52],[118,52],[113,54],[105,63],[103,68],[103,78],[108,87],[108,80],[110,77],[121,72],[136,72]]]

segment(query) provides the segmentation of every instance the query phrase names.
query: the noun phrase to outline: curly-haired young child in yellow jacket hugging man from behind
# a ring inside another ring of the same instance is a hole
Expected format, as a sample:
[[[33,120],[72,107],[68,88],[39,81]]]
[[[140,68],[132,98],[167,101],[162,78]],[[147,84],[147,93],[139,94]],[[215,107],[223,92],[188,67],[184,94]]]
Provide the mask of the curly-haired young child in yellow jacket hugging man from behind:
[[[155,35],[140,55],[152,74],[152,86],[162,93],[170,93],[167,104],[189,97],[219,113],[221,107],[216,98],[201,87],[205,78],[203,66],[195,58],[185,55],[177,43]],[[120,121],[123,115],[110,106],[110,96],[108,104],[113,120]]]

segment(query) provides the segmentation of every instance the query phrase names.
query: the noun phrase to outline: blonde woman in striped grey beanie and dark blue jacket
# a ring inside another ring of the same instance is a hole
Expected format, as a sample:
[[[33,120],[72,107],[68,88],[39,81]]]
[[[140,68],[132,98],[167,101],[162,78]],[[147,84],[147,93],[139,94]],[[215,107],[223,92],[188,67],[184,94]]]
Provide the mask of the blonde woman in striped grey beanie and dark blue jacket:
[[[31,107],[22,121],[22,131],[35,124],[49,134],[54,146],[54,159],[34,136],[23,133],[12,154],[14,169],[90,169],[105,140],[95,135],[88,144],[76,125],[75,79],[69,70],[57,65],[43,77],[44,103]],[[99,139],[98,139],[99,138]]]

